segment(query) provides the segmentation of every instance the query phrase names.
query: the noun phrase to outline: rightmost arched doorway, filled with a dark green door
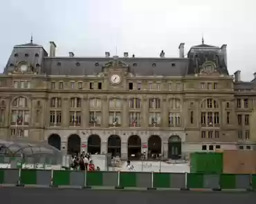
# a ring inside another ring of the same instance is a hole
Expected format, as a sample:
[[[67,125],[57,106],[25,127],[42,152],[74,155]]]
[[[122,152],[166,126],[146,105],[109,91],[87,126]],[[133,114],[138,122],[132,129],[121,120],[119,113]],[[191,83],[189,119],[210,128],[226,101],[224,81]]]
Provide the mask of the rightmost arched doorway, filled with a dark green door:
[[[168,139],[168,158],[181,159],[181,138],[178,135],[172,135]]]

